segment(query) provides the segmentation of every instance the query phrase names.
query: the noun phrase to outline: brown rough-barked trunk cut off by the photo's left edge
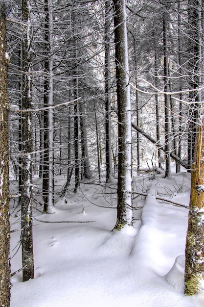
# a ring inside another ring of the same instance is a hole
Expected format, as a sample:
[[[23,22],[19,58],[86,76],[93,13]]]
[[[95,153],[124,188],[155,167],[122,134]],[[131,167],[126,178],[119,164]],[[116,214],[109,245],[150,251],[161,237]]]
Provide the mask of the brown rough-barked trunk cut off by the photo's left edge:
[[[6,11],[0,3],[0,306],[10,306]]]

